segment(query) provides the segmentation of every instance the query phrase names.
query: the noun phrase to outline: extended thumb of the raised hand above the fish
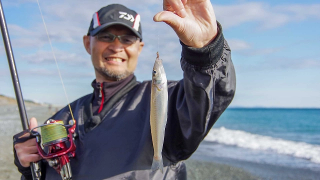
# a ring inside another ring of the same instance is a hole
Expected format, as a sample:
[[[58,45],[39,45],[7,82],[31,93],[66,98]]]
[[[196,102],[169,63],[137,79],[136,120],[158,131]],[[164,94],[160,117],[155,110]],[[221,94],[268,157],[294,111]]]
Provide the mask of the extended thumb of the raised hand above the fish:
[[[182,19],[183,18],[178,16],[176,13],[170,11],[161,11],[153,16],[154,21],[165,22],[171,26],[175,32],[179,31],[179,29],[183,26]]]

